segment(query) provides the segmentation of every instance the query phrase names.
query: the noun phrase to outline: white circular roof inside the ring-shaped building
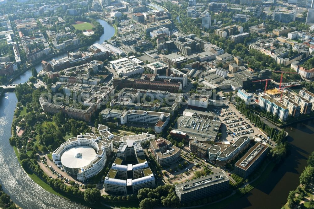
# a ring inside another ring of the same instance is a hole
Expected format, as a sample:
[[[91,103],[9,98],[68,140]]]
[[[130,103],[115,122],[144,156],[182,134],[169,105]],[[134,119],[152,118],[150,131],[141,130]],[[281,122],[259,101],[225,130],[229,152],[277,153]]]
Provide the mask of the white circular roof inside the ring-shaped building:
[[[68,168],[81,168],[87,166],[95,159],[96,152],[88,146],[77,146],[65,151],[61,156],[62,165]]]

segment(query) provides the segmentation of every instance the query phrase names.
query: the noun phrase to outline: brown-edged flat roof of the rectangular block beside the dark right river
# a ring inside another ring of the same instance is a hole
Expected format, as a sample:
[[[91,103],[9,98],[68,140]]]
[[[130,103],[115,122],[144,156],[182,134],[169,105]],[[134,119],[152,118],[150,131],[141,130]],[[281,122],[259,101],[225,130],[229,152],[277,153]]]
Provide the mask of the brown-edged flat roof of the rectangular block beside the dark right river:
[[[257,142],[243,157],[236,162],[235,166],[247,170],[266,150],[268,146]]]

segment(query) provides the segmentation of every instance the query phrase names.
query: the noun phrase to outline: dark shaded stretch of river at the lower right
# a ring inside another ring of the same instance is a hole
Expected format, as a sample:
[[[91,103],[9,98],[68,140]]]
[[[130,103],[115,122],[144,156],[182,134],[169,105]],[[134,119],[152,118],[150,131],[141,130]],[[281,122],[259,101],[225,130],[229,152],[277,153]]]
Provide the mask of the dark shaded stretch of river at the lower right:
[[[283,163],[276,166],[268,178],[248,194],[232,203],[232,208],[281,208],[289,191],[299,185],[299,177],[309,155],[314,151],[314,121],[294,124],[285,129],[288,132],[290,154]]]

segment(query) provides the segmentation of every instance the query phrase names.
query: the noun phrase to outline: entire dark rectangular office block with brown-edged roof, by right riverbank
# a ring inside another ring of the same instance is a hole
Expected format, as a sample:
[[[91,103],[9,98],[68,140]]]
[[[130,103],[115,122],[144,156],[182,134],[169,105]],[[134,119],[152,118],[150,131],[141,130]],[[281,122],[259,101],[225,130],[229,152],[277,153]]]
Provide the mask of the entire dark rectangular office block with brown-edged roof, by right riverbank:
[[[247,179],[266,157],[268,152],[268,145],[257,142],[249,151],[235,164],[233,170],[235,174]]]

